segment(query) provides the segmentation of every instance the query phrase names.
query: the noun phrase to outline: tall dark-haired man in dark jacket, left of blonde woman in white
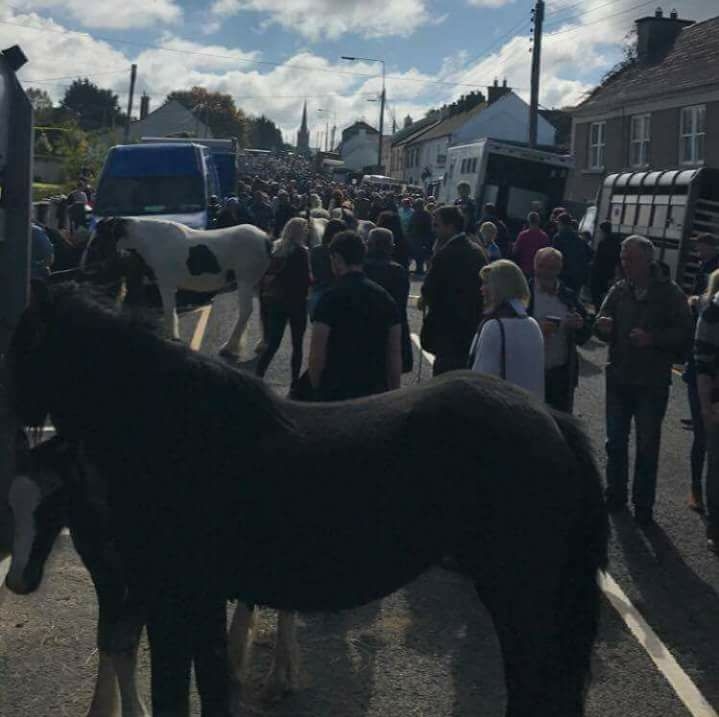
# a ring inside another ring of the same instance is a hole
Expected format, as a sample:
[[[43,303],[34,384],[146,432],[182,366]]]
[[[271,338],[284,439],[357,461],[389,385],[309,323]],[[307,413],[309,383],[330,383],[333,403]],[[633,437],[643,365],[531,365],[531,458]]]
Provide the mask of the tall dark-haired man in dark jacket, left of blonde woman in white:
[[[441,248],[422,286],[427,315],[422,347],[435,355],[434,375],[466,368],[469,347],[482,317],[480,269],[484,251],[464,233],[458,207],[441,207],[434,214]]]

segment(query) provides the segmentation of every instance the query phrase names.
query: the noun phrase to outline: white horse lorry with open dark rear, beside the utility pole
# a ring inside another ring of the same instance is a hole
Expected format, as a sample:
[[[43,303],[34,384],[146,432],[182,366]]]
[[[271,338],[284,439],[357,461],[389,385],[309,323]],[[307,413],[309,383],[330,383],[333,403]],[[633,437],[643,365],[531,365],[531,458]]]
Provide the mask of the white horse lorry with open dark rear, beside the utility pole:
[[[508,225],[519,228],[527,214],[560,206],[574,159],[510,142],[481,139],[450,147],[440,199],[454,202],[467,182],[480,205],[494,204]]]

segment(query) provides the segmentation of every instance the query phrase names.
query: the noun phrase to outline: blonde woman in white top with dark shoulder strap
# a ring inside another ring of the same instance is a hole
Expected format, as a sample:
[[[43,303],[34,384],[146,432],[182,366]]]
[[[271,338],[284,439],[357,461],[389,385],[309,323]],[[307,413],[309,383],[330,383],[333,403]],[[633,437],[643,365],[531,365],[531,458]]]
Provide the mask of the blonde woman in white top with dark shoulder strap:
[[[521,269],[500,259],[479,273],[484,319],[470,349],[470,368],[497,376],[544,401],[544,338],[528,316],[530,292]]]

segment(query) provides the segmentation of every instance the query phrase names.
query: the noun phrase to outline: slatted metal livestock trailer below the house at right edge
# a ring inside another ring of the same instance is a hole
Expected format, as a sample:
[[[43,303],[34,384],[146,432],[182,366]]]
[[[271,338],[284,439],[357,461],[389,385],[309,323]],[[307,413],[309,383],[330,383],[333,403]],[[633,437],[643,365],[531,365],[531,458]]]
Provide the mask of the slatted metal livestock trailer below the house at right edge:
[[[602,222],[610,222],[622,238],[640,234],[651,239],[657,260],[690,291],[700,266],[697,236],[719,235],[719,169],[610,174],[599,190],[595,242]]]

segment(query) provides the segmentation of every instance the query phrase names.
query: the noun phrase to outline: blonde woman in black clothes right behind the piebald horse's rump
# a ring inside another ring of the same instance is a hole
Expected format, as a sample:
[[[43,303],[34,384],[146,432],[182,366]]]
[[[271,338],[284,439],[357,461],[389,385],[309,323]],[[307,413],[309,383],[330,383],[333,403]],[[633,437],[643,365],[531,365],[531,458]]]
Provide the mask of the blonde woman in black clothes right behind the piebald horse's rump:
[[[294,217],[272,247],[270,268],[262,280],[260,298],[265,315],[267,344],[257,363],[257,375],[264,376],[282,343],[287,323],[292,334],[292,382],[302,369],[302,341],[307,328],[307,291],[310,261],[307,250],[309,225]]]

